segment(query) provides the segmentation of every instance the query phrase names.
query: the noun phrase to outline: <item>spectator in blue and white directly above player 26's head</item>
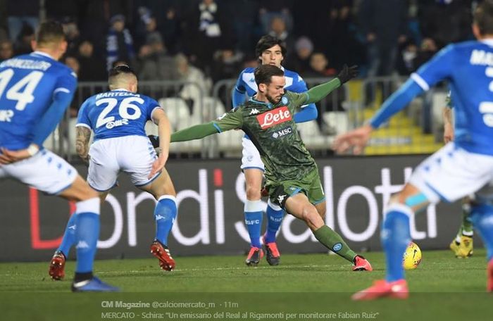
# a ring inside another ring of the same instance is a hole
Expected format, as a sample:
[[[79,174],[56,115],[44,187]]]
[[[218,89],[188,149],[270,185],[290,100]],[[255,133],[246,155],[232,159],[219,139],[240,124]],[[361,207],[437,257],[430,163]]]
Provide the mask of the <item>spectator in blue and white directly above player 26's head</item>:
[[[130,31],[125,27],[124,15],[113,15],[110,20],[110,29],[106,37],[106,68],[111,70],[113,62],[118,60],[130,61],[135,58],[133,39]]]

